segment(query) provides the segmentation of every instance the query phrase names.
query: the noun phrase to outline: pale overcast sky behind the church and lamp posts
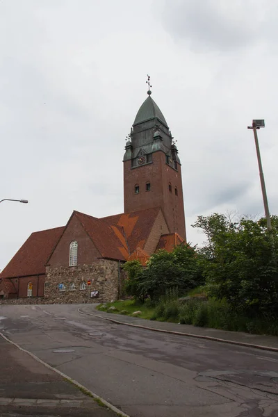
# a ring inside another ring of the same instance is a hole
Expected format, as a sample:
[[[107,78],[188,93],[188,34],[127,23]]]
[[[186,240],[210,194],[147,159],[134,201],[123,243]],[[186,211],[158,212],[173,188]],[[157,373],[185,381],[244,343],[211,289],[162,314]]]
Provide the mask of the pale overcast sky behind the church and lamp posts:
[[[123,211],[126,135],[147,97],[182,163],[190,227],[263,214],[252,131],[278,211],[277,0],[0,0],[0,268],[73,210]],[[275,125],[276,123],[276,125]]]

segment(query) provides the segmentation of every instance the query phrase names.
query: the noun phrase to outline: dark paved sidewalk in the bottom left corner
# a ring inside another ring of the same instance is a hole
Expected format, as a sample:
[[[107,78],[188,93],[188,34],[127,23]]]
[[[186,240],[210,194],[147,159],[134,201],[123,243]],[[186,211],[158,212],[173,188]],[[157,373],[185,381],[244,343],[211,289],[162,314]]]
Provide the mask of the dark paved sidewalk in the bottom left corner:
[[[76,386],[0,336],[1,417],[115,417]]]

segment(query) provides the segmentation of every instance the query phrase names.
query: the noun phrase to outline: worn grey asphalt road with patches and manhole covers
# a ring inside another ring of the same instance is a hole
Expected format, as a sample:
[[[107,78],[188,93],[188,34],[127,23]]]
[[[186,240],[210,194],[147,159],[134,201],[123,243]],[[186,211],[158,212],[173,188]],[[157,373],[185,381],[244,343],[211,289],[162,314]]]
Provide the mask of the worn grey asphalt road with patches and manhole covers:
[[[81,315],[0,306],[0,332],[131,417],[278,417],[278,354]]]

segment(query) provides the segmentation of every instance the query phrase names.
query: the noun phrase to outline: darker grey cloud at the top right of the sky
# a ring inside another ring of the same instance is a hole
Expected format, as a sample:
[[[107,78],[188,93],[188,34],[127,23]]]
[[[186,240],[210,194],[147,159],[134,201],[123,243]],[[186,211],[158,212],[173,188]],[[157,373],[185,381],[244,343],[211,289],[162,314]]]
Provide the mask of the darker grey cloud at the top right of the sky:
[[[195,50],[230,51],[254,44],[261,36],[261,0],[173,0],[165,2],[165,30],[188,40]]]

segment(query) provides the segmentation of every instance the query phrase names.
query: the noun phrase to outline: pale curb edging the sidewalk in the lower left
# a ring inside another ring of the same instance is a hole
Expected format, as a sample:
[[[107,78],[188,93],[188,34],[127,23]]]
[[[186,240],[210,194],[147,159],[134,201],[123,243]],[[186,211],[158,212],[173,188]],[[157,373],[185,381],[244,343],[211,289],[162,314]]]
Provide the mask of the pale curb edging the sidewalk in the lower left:
[[[117,409],[117,407],[115,407],[113,404],[110,404],[110,402],[107,402],[106,400],[104,400],[104,398],[99,397],[99,395],[93,393],[92,391],[90,391],[90,389],[86,388],[82,384],[79,384],[79,382],[77,382],[75,379],[72,379],[68,375],[65,375],[60,370],[58,370],[56,368],[53,368],[48,363],[42,361],[42,359],[40,359],[37,356],[35,356],[35,354],[29,352],[28,350],[25,350],[23,347],[20,347],[19,345],[17,345],[17,343],[11,341],[9,338],[7,338],[6,336],[4,336],[3,333],[0,332],[0,336],[5,341],[7,341],[8,343],[11,343],[15,347],[17,347],[17,349],[22,350],[22,352],[27,353],[28,355],[30,355],[33,359],[35,359],[35,361],[42,363],[42,365],[46,366],[47,368],[49,368],[51,370],[54,370],[54,372],[58,373],[61,377],[67,379],[67,381],[71,382],[72,384],[76,385],[78,388],[81,388],[83,391],[85,391],[86,393],[90,394],[92,396],[92,398],[94,398],[95,400],[101,401],[108,409],[111,409],[112,411],[114,411],[117,414],[117,416],[120,416],[120,417],[130,417],[130,416],[128,416],[128,414],[125,414],[122,410]]]

